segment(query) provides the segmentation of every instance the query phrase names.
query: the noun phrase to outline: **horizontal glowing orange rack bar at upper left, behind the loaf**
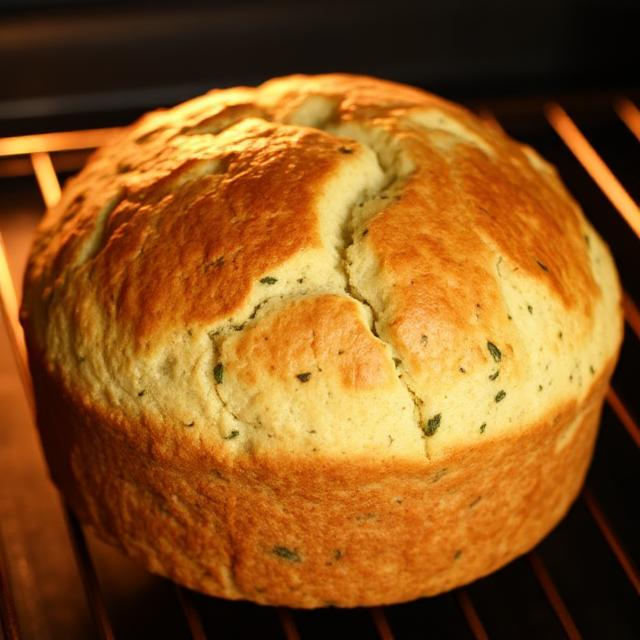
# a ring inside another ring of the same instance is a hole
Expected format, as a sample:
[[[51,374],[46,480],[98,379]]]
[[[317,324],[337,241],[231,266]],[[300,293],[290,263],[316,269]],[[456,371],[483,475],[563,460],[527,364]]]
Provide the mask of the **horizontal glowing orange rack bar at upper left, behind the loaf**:
[[[110,140],[120,129],[85,129],[84,131],[60,131],[32,136],[16,136],[0,139],[0,157],[92,149]]]

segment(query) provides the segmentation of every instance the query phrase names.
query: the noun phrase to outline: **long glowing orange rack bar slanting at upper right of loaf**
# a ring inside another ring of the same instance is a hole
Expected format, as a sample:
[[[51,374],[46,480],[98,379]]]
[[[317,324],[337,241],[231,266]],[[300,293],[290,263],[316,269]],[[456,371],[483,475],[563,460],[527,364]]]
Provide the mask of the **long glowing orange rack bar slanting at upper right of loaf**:
[[[613,175],[596,150],[576,127],[564,109],[550,104],[545,109],[547,120],[571,149],[613,206],[640,238],[640,210],[619,180]]]

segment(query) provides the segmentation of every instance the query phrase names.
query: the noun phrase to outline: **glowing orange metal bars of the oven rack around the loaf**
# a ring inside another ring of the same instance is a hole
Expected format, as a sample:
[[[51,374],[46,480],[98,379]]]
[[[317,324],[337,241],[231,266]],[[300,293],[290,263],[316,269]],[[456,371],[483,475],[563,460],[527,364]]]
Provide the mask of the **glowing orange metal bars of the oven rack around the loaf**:
[[[621,121],[627,126],[628,132],[640,140],[640,112],[635,104],[628,99],[621,99],[612,107]],[[480,115],[493,126],[501,127],[501,124],[490,111],[483,110]],[[559,104],[551,103],[547,105],[544,109],[544,116],[566,147],[573,153],[576,160],[609,199],[615,210],[622,216],[630,230],[640,238],[640,212],[638,206],[594,146],[591,145]],[[55,158],[52,159],[52,154],[90,150],[108,140],[116,131],[116,129],[112,128],[92,129],[4,138],[0,139],[0,160],[28,157],[42,200],[46,206],[51,206],[60,197],[60,183],[56,172]],[[22,382],[23,393],[33,412],[24,338],[17,320],[17,296],[1,235],[0,294],[3,318],[10,337],[10,344],[15,357],[18,375]],[[632,339],[640,340],[640,313],[629,292],[624,294],[624,311]],[[617,416],[620,424],[626,429],[631,442],[634,442],[636,447],[639,447],[640,429],[633,412],[625,405],[620,394],[613,387],[610,388],[607,394],[607,403],[615,416]],[[638,569],[609,520],[606,509],[601,506],[589,487],[585,487],[583,490],[581,500],[637,597],[640,594]],[[629,505],[629,508],[632,508],[632,506]],[[62,510],[65,514],[68,536],[74,550],[78,572],[82,580],[87,604],[91,611],[95,632],[103,640],[113,640],[116,634],[85,532],[73,513],[65,505],[62,505]],[[559,621],[564,635],[571,640],[581,638],[582,633],[574,620],[571,608],[563,598],[561,588],[556,584],[553,572],[547,567],[541,554],[534,550],[528,554],[527,558],[530,571],[535,577],[540,590],[544,593],[548,607],[554,612]],[[4,633],[5,640],[18,640],[23,635],[12,590],[11,575],[8,570],[9,564],[10,559],[7,557],[6,550],[3,547],[0,526],[0,631]],[[201,596],[196,596],[196,594],[187,589],[175,586],[175,602],[182,612],[183,623],[190,637],[194,640],[205,640],[209,635],[202,619],[202,607],[198,605],[197,598],[201,598]],[[459,613],[466,622],[468,634],[476,640],[489,638],[478,609],[474,604],[470,589],[457,589],[455,600]],[[394,640],[396,634],[393,624],[387,615],[386,608],[374,607],[368,609],[367,612],[372,623],[372,629],[375,630],[377,637],[381,640]],[[287,640],[298,640],[304,637],[300,631],[297,614],[294,610],[277,608],[274,613],[282,636]]]

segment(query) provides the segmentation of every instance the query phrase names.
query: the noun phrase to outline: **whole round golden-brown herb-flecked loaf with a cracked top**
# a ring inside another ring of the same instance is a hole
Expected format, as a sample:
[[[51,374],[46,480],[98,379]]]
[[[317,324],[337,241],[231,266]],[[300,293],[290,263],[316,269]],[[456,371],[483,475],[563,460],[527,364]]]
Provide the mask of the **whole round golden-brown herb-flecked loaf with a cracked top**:
[[[534,546],[622,334],[551,166],[348,75],[124,130],[40,225],[22,320],[82,522],[188,587],[296,607],[436,594]]]

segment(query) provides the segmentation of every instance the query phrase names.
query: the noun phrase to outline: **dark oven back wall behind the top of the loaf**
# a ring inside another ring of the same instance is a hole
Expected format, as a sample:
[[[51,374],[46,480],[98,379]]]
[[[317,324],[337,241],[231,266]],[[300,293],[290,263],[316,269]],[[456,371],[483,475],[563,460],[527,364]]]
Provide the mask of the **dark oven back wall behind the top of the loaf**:
[[[633,89],[640,3],[0,1],[4,135],[127,121],[216,86],[352,71],[454,99]]]

